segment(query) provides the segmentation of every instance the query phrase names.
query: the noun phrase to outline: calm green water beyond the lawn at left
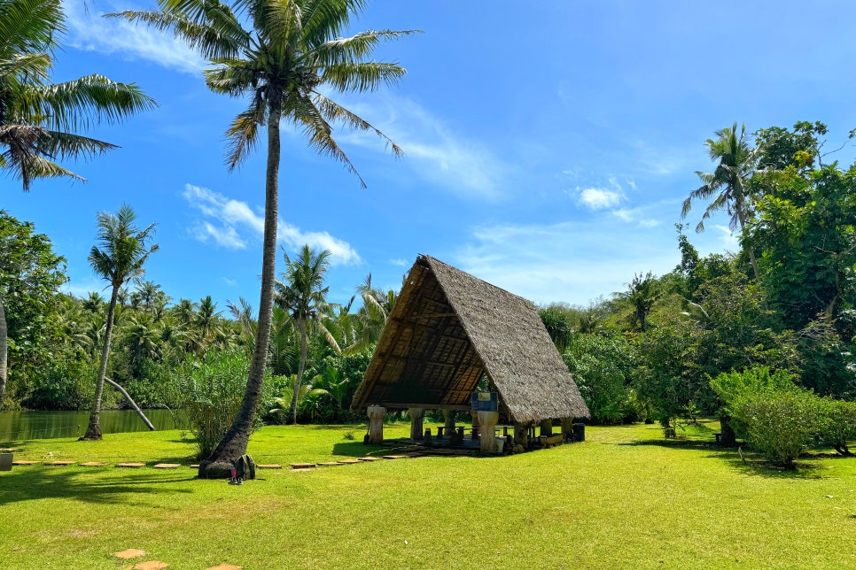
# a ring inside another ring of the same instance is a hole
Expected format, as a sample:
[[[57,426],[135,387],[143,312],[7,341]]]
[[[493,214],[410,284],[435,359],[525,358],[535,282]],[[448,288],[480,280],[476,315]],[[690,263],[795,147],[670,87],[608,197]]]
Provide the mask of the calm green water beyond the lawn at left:
[[[144,410],[145,416],[157,429],[180,429],[183,414],[169,410]],[[179,421],[179,425],[175,424]],[[148,431],[143,420],[132,410],[101,412],[101,431],[117,434],[128,431]],[[89,412],[0,412],[0,442],[54,437],[80,437],[89,425]]]

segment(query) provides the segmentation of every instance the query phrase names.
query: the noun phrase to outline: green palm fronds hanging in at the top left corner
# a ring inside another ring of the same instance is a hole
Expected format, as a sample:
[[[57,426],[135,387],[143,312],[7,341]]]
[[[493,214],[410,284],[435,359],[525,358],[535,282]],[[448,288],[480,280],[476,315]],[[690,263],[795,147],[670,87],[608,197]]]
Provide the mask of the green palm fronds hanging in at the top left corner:
[[[0,168],[25,191],[38,178],[85,180],[57,161],[116,146],[74,131],[156,105],[135,84],[102,75],[51,83],[53,51],[65,31],[61,0],[0,0]]]

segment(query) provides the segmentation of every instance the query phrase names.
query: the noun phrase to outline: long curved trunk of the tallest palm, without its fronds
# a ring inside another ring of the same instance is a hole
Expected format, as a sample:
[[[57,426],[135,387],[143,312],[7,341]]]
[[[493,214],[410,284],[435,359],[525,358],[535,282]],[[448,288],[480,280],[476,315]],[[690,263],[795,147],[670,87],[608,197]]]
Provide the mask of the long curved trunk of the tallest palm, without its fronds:
[[[274,307],[276,279],[276,220],[279,215],[279,119],[282,115],[282,94],[268,93],[268,166],[265,177],[265,227],[261,261],[261,300],[259,324],[256,328],[253,363],[246,381],[244,401],[235,420],[210,458],[199,464],[202,479],[228,479],[237,458],[246,453],[253,431],[255,409],[261,398],[265,366],[268,364],[270,322]]]

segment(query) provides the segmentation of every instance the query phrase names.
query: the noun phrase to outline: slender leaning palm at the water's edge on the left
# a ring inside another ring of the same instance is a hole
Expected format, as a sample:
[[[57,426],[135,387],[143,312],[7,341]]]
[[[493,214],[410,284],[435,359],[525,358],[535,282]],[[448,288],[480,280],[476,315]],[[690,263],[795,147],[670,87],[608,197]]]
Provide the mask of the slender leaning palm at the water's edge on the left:
[[[108,212],[98,213],[98,246],[89,251],[89,264],[95,273],[108,281],[113,287],[110,304],[107,308],[107,322],[104,345],[101,349],[101,364],[98,366],[98,378],[92,412],[89,414],[89,427],[83,439],[101,439],[101,394],[104,391],[104,378],[107,374],[107,358],[110,355],[110,336],[113,334],[113,316],[116,313],[116,301],[119,289],[127,281],[143,276],[143,264],[158,250],[158,244],[148,245],[154,232],[154,224],[140,229],[134,224],[136,214],[127,204],[123,204],[115,215]]]

